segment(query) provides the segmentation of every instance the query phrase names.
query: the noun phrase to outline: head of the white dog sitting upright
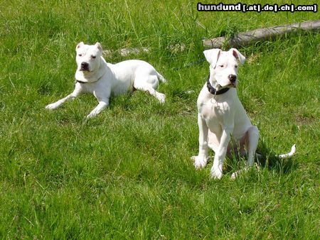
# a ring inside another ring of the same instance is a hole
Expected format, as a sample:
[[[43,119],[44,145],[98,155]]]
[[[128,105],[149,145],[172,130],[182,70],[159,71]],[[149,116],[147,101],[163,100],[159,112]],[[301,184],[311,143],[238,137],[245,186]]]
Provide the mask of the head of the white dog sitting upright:
[[[245,63],[245,57],[237,49],[231,48],[227,52],[210,49],[203,54],[210,63],[210,83],[215,89],[237,87],[238,62]]]

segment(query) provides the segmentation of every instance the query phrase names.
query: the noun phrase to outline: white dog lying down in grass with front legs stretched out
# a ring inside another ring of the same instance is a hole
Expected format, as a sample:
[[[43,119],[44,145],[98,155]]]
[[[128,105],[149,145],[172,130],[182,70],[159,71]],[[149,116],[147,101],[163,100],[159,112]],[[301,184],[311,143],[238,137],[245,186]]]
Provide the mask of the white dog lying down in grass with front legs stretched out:
[[[79,43],[75,48],[78,69],[75,72],[75,89],[67,97],[48,104],[46,109],[57,109],[69,99],[75,99],[79,94],[90,92],[95,95],[99,104],[87,118],[96,116],[109,105],[110,96],[124,94],[132,89],[149,92],[161,103],[166,96],[156,92],[159,80],[166,82],[148,62],[142,60],[127,60],[117,64],[107,63],[102,57],[100,43],[85,45]]]

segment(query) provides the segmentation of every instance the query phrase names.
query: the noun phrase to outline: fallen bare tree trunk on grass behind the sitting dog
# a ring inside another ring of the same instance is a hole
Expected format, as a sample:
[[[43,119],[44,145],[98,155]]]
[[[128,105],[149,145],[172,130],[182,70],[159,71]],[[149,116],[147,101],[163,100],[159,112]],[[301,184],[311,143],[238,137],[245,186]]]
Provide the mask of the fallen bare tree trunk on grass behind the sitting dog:
[[[237,48],[239,46],[256,43],[260,40],[272,39],[286,33],[297,31],[320,31],[320,20],[274,26],[271,28],[258,28],[252,31],[238,33],[237,36],[229,40],[225,39],[225,37],[207,39],[203,40],[203,47],[206,49],[222,48],[224,45],[228,45],[228,47]]]

